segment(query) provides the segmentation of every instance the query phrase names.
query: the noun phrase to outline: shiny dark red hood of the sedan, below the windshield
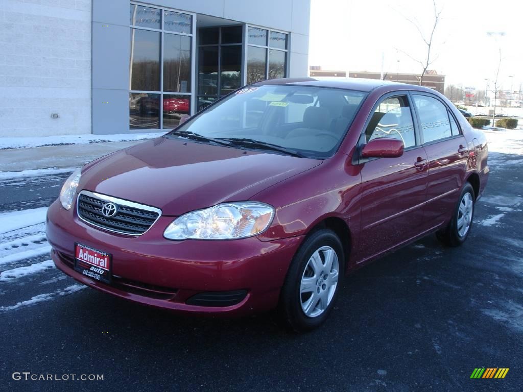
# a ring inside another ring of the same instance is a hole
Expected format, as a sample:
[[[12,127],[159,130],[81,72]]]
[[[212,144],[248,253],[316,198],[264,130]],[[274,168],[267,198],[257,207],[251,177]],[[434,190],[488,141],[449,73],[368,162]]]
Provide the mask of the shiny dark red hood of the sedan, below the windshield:
[[[221,202],[248,200],[322,162],[160,137],[86,165],[78,189],[178,216]]]

